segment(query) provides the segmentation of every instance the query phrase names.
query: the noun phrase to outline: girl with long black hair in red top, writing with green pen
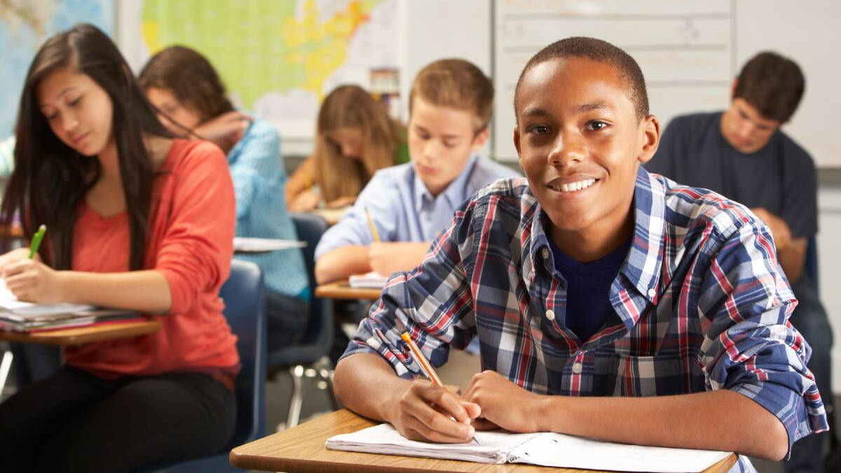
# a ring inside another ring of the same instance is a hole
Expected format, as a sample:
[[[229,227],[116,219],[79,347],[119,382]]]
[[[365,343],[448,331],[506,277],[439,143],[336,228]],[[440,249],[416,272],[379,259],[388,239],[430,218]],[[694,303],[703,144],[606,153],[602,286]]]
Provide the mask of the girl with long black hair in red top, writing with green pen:
[[[66,348],[0,404],[0,471],[134,471],[219,453],[235,428],[236,338],[222,315],[235,225],[225,156],[172,139],[116,45],[90,24],[29,68],[0,225],[40,259],[0,257],[21,300],[155,314],[160,332]]]

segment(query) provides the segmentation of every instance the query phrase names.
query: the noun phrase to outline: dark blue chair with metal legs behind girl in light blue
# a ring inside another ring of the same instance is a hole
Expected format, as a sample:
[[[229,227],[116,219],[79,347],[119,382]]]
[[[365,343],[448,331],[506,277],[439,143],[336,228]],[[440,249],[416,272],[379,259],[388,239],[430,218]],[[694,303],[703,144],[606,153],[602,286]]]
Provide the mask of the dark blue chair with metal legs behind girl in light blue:
[[[315,246],[318,245],[321,235],[327,230],[327,222],[318,215],[305,213],[290,213],[295,224],[295,231],[299,240],[307,243],[304,247],[304,265],[307,268],[309,287],[315,293]],[[301,341],[289,347],[275,350],[268,354],[268,364],[272,369],[288,368],[292,376],[293,391],[289,400],[289,413],[286,427],[291,428],[298,425],[301,414],[301,404],[304,400],[304,386],[302,380],[304,375],[308,377],[318,376],[327,385],[327,391],[331,396],[333,407],[336,407],[336,399],[333,398],[333,371],[327,368],[318,368],[316,363],[330,353],[333,345],[335,327],[333,325],[332,300],[320,299],[313,294],[309,302],[309,322],[306,332]]]

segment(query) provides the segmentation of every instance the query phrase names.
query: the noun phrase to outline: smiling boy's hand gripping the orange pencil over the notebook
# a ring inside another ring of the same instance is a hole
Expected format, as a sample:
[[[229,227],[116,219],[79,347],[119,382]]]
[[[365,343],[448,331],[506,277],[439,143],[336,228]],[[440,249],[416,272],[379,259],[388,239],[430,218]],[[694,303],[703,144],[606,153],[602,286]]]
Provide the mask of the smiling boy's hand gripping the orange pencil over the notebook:
[[[458,399],[445,387],[414,380],[391,401],[385,417],[405,438],[463,444],[473,438],[470,421],[479,412],[479,406]]]

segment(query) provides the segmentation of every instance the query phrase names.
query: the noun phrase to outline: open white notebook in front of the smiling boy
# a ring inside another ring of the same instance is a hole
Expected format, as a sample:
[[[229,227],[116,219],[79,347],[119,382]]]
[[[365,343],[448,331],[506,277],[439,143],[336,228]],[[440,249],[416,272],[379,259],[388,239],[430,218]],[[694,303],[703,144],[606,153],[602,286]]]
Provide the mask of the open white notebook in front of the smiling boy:
[[[374,454],[395,454],[480,463],[529,463],[588,470],[702,471],[729,452],[665,449],[611,444],[561,433],[477,432],[477,444],[415,442],[383,423],[328,438],[326,447]]]

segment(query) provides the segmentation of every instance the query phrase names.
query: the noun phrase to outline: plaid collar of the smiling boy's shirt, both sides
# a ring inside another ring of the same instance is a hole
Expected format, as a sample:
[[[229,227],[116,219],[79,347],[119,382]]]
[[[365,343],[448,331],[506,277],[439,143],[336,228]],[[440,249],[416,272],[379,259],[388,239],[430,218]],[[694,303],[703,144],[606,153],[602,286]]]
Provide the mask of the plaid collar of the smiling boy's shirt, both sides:
[[[532,197],[532,199],[534,199]],[[547,233],[543,227],[545,212],[535,199],[536,211],[532,214],[531,248],[528,260],[531,263],[529,279],[535,277],[534,268],[544,265],[551,269],[547,262],[552,259]],[[665,188],[657,178],[654,178],[644,167],[637,171],[637,182],[634,186],[634,233],[631,249],[625,262],[622,263],[620,274],[623,274],[633,288],[646,300],[656,303],[659,299],[658,284],[662,258],[660,248],[663,245],[665,232]],[[545,248],[545,251],[544,251]],[[553,264],[553,263],[551,263]]]

